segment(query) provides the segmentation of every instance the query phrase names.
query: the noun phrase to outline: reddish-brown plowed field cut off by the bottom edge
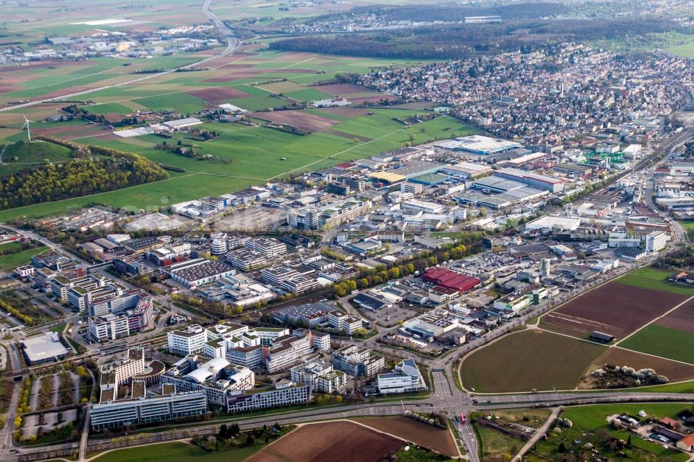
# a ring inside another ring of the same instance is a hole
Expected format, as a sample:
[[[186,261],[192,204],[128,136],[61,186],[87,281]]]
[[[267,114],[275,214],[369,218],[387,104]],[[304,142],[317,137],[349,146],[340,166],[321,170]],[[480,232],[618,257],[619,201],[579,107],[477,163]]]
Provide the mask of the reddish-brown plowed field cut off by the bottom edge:
[[[352,422],[303,425],[249,462],[380,462],[403,442]]]

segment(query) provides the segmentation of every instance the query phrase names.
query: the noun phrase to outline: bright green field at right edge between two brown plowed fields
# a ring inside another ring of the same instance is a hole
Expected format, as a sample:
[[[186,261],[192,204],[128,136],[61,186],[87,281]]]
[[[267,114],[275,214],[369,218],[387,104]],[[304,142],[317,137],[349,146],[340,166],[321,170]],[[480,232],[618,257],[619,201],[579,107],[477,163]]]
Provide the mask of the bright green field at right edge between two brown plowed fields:
[[[620,347],[694,364],[694,334],[661,325],[648,325]]]

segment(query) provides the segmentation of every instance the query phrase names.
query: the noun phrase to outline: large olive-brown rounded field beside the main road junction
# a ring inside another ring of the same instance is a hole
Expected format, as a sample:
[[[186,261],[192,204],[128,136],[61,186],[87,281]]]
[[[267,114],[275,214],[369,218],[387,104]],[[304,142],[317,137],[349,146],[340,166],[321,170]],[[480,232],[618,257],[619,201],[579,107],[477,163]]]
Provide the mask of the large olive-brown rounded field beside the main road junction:
[[[602,345],[526,330],[468,356],[462,363],[462,382],[480,393],[573,389],[604,350]]]

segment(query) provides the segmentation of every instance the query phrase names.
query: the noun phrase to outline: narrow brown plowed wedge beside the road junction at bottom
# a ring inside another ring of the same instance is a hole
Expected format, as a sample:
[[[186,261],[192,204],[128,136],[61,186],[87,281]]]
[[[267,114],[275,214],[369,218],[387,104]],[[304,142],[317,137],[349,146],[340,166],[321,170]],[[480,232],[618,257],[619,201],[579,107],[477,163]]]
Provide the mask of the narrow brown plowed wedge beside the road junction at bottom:
[[[416,445],[428,447],[450,457],[456,457],[458,450],[455,447],[450,431],[432,425],[423,424],[416,420],[403,416],[389,417],[363,417],[355,418],[357,422],[368,425],[373,429],[384,431],[387,434],[398,436],[403,440]]]

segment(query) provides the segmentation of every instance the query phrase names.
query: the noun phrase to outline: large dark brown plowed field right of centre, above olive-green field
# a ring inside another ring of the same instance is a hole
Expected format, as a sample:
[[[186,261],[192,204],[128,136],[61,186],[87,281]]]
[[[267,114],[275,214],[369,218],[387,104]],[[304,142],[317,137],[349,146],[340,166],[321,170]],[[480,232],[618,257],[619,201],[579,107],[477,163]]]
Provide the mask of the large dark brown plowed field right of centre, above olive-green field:
[[[677,293],[611,282],[551,311],[542,318],[542,323],[549,330],[581,337],[600,330],[623,339],[686,298]]]

